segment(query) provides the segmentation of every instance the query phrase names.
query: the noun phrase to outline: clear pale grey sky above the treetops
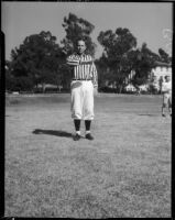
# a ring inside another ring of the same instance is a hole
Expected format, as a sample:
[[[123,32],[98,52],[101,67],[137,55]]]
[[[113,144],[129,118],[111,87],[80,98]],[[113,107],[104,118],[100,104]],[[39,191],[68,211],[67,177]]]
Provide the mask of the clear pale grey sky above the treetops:
[[[173,3],[172,2],[8,2],[1,3],[1,30],[6,36],[6,59],[11,50],[19,47],[24,38],[41,31],[50,31],[61,41],[66,33],[62,26],[64,16],[76,14],[95,25],[91,33],[97,44],[96,58],[102,47],[97,41],[100,31],[127,28],[138,40],[138,47],[145,42],[158,53],[163,48],[172,53]]]

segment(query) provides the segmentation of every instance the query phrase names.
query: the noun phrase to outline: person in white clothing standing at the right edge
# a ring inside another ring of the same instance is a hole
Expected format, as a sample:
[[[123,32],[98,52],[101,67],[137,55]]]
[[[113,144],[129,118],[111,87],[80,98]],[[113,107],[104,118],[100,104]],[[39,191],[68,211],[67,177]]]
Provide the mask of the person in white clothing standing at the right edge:
[[[163,103],[162,117],[166,117],[165,109],[168,108],[169,116],[172,116],[172,80],[168,75],[165,76],[165,81],[162,84]]]

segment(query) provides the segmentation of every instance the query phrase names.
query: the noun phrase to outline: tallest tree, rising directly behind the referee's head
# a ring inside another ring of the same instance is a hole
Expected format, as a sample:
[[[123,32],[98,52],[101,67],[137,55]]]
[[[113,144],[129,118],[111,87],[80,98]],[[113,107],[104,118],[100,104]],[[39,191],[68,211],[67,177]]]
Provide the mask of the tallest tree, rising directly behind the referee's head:
[[[96,44],[90,37],[95,26],[91,23],[69,13],[68,18],[64,18],[64,23],[62,25],[65,29],[66,36],[61,43],[63,44],[63,50],[67,55],[74,52],[79,37],[83,37],[86,41],[87,52],[92,56],[95,55]]]

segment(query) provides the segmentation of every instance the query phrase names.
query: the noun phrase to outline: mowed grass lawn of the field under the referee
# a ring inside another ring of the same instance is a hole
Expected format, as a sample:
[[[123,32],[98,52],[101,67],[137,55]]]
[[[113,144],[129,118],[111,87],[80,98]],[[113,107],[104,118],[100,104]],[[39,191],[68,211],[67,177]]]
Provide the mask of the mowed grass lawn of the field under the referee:
[[[100,94],[94,141],[73,141],[70,97],[7,97],[6,216],[169,218],[172,119],[161,96]]]

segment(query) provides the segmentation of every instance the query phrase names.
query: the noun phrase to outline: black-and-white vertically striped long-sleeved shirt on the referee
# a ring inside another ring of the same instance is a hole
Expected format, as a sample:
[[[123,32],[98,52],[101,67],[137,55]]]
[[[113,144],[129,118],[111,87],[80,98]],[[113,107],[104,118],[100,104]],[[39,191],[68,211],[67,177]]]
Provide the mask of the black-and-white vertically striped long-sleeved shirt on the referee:
[[[67,64],[73,67],[73,79],[90,79],[94,86],[98,85],[97,69],[90,55],[73,54],[67,57]]]

